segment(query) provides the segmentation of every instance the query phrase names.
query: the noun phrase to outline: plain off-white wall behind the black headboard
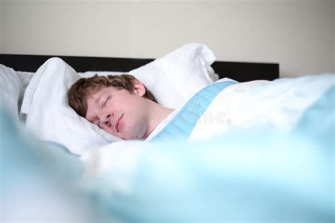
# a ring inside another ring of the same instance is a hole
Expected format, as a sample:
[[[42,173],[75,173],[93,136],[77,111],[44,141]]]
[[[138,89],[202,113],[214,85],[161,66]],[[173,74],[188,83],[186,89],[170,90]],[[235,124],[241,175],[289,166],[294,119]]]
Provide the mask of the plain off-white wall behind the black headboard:
[[[278,62],[281,76],[335,72],[333,0],[4,0],[6,54],[155,58],[203,42],[223,61]]]

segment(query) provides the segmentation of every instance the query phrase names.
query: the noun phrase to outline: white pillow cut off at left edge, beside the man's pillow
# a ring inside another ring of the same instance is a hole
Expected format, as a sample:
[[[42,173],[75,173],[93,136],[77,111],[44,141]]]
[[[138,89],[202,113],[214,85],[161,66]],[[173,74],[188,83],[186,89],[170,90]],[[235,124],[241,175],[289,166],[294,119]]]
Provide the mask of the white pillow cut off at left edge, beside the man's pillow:
[[[18,101],[23,95],[23,85],[16,72],[2,64],[0,64],[0,94],[0,104],[8,109],[18,123]]]

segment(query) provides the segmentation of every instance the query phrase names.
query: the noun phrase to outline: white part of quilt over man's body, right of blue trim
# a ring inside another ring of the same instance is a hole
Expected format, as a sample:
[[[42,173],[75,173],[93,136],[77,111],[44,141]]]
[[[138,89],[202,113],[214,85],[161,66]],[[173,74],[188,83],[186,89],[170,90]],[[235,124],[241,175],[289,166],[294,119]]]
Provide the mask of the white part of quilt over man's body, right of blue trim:
[[[335,84],[335,76],[306,76],[231,85],[199,119],[189,137],[204,140],[232,129],[290,131],[304,111]]]

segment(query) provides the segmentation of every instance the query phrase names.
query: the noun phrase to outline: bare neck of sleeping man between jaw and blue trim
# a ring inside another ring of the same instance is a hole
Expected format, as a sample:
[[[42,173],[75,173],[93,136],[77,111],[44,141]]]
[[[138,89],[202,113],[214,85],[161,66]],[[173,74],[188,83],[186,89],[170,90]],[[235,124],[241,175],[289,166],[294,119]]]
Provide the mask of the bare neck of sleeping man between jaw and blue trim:
[[[173,109],[163,107],[160,104],[148,100],[148,131],[146,132],[145,138],[147,138],[172,111]]]

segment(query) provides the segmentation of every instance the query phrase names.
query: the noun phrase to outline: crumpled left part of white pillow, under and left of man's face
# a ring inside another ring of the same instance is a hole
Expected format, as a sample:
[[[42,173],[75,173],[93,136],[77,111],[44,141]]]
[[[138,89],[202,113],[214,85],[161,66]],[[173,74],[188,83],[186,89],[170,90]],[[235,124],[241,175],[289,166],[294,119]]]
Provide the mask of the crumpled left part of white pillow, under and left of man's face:
[[[61,59],[47,60],[30,81],[21,112],[28,114],[27,128],[42,140],[59,143],[81,155],[88,147],[121,139],[78,116],[69,107],[67,91],[78,78],[81,76]]]

